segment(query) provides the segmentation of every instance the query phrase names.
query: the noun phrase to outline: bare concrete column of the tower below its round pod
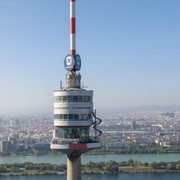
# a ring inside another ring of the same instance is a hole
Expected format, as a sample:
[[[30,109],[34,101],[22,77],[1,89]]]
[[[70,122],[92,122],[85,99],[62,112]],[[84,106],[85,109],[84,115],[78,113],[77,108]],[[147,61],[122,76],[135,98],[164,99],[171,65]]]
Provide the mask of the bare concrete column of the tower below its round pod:
[[[67,180],[81,180],[81,156],[67,157]]]

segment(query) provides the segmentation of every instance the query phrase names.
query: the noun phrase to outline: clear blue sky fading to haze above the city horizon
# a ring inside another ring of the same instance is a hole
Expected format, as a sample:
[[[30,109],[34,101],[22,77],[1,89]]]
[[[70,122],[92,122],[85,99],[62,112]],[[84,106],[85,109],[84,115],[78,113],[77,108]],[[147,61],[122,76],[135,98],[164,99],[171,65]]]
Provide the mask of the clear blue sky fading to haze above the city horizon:
[[[77,0],[77,53],[94,108],[180,104],[180,1]],[[0,0],[0,113],[53,109],[69,0]]]

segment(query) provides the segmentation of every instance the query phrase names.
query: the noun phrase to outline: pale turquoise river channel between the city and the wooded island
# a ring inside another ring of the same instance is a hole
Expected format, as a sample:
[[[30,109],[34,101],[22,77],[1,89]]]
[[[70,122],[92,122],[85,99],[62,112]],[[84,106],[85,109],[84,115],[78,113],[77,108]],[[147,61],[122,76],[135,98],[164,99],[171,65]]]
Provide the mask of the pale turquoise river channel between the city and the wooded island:
[[[172,154],[105,154],[105,155],[93,155],[93,154],[84,154],[81,156],[82,164],[86,164],[90,161],[93,162],[107,162],[110,160],[121,162],[133,159],[134,161],[140,162],[170,162],[170,161],[179,161],[180,153]],[[33,162],[33,163],[51,163],[51,164],[66,164],[66,155],[44,155],[44,156],[0,156],[0,164],[4,163],[24,163],[24,162]]]

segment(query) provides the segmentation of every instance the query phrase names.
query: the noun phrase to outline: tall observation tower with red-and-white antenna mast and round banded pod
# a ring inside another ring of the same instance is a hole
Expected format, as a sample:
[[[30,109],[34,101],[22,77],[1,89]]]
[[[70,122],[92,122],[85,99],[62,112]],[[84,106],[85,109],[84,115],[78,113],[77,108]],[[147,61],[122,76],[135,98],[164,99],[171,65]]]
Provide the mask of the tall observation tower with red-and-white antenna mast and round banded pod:
[[[67,154],[67,180],[81,180],[81,154],[100,148],[93,109],[93,90],[81,86],[81,58],[76,53],[75,0],[70,1],[70,53],[64,59],[66,87],[54,91],[54,132],[51,149]],[[91,130],[91,132],[90,132]],[[93,133],[92,133],[93,131]]]

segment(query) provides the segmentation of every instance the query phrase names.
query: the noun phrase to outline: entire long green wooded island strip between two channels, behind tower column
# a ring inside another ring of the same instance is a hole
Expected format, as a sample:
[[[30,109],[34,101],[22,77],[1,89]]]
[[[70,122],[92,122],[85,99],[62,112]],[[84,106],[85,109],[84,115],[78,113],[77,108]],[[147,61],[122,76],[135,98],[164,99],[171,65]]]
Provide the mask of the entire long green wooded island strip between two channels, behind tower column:
[[[82,173],[135,173],[135,172],[177,172],[180,173],[180,161],[178,162],[153,162],[142,163],[132,159],[109,162],[89,162],[82,165]],[[37,174],[66,174],[66,164],[49,163],[14,163],[0,164],[0,175],[37,175]]]

